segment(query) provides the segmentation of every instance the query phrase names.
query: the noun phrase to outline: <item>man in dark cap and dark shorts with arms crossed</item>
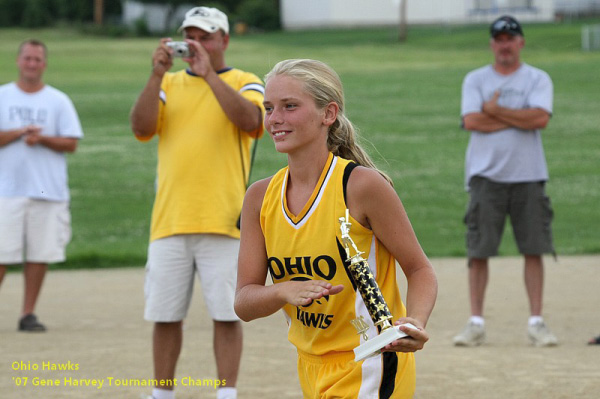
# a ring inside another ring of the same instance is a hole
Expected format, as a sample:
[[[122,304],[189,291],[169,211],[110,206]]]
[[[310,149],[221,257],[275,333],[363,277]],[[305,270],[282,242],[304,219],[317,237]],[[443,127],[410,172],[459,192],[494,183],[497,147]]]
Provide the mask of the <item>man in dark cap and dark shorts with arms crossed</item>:
[[[552,81],[546,72],[521,61],[525,39],[517,20],[500,17],[490,33],[493,65],[467,74],[462,86],[461,116],[471,131],[465,162],[470,201],[464,220],[471,318],[454,344],[475,346],[485,340],[488,258],[497,255],[509,216],[525,260],[529,338],[536,346],[553,346],[557,339],[542,319],[542,254],[554,253],[554,247],[541,136],[552,114]]]

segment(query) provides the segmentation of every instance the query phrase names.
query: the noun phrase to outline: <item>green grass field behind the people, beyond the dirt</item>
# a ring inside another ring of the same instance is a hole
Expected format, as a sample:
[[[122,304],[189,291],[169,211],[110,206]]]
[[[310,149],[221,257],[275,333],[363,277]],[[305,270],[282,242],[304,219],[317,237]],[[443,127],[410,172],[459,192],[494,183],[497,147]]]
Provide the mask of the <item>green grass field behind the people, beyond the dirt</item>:
[[[548,192],[559,254],[600,252],[600,52],[580,50],[577,23],[525,26],[523,59],[555,85],[545,130]],[[0,83],[16,77],[18,44],[49,47],[46,82],[70,95],[85,139],[69,156],[73,241],[66,267],[142,265],[154,197],[156,141],[141,144],[128,113],[150,72],[156,38],[104,38],[75,30],[1,30]],[[278,32],[234,37],[229,65],[263,76],[286,58],[317,58],[345,84],[347,112],[377,163],[394,179],[430,256],[464,256],[464,151],[460,87],[491,62],[486,26],[413,27],[400,44],[392,28]],[[184,67],[177,61],[176,67]],[[252,180],[285,164],[260,141]],[[501,254],[516,254],[507,235]]]

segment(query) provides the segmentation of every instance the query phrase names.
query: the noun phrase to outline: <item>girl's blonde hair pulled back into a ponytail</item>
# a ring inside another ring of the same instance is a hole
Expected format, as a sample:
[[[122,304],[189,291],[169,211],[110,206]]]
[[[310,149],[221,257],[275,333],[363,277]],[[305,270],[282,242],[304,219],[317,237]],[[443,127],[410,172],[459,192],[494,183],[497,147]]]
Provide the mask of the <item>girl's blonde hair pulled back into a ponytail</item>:
[[[265,83],[277,75],[286,75],[304,83],[317,108],[323,109],[334,102],[339,107],[337,120],[329,127],[327,149],[333,155],[349,159],[357,164],[378,171],[390,184],[392,180],[380,171],[358,143],[358,129],[346,117],[344,88],[338,74],[327,64],[310,59],[292,59],[277,63],[265,75]]]

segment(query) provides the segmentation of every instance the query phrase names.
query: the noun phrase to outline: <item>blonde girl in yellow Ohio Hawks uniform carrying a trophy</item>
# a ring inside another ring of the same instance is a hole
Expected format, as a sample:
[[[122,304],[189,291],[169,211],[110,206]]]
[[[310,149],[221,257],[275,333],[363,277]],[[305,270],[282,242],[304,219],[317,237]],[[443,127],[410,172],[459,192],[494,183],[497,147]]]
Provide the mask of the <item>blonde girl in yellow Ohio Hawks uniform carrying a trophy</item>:
[[[298,349],[305,399],[412,398],[413,353],[422,349],[437,295],[423,253],[391,181],[355,142],[337,74],[315,60],[287,60],[265,78],[265,128],[288,166],[250,187],[242,210],[235,310],[245,321],[283,309]],[[348,272],[338,219],[364,252],[395,324],[409,339],[355,362],[361,343],[350,320],[377,334]],[[396,284],[404,272],[407,306]],[[274,284],[265,286],[267,273]]]

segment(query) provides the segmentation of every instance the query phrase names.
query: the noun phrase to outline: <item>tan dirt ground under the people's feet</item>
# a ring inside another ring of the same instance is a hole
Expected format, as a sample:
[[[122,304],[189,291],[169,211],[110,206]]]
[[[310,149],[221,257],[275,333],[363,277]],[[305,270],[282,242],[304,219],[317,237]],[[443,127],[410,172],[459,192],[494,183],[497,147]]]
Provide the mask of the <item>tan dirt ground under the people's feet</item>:
[[[546,321],[561,345],[542,349],[527,341],[520,259],[492,261],[488,343],[479,348],[451,344],[468,315],[465,260],[432,262],[440,292],[428,326],[431,341],[417,355],[417,399],[600,397],[600,347],[585,345],[600,333],[600,257],[546,259]],[[152,376],[143,279],[142,268],[51,272],[38,308],[49,331],[23,334],[16,332],[22,277],[8,274],[0,289],[0,398],[137,399],[149,393],[140,386]],[[244,327],[239,398],[299,398],[296,355],[282,315]],[[179,399],[215,397],[212,328],[198,285],[177,374]]]

